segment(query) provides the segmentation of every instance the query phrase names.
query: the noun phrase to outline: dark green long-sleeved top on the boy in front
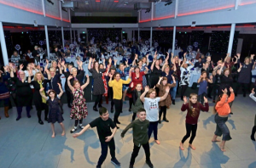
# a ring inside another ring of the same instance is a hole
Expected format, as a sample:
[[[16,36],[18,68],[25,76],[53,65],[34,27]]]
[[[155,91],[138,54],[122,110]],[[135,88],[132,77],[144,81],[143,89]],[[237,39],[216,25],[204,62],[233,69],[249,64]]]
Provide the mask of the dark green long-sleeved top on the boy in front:
[[[149,120],[141,121],[139,119],[134,120],[126,126],[125,130],[121,133],[121,137],[125,137],[125,133],[132,128],[133,130],[133,143],[140,147],[143,144],[148,143],[148,126]]]

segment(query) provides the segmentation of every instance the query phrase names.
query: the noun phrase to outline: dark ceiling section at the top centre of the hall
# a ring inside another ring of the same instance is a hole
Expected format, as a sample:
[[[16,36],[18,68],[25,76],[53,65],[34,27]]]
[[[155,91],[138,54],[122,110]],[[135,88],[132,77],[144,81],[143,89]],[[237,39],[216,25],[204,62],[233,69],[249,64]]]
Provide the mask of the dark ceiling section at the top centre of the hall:
[[[113,3],[114,0],[101,0],[101,3],[96,3],[96,0],[73,0],[79,2],[79,9],[75,12],[134,12],[134,3],[148,3],[148,0],[119,0],[119,3]],[[85,4],[87,1],[89,4]],[[127,5],[124,5],[128,3]]]

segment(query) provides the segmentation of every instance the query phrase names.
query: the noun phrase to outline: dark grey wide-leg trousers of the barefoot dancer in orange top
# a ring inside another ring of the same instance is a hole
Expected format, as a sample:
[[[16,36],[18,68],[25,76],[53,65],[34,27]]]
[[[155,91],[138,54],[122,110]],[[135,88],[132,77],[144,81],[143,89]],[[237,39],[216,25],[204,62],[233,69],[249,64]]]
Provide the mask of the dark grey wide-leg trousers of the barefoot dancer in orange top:
[[[229,141],[230,139],[232,139],[230,137],[230,130],[225,123],[228,120],[228,117],[220,117],[218,116],[218,114],[216,114],[214,120],[217,124],[216,131],[214,132],[214,134],[217,135],[218,137],[221,137],[221,135],[223,134],[223,141]]]

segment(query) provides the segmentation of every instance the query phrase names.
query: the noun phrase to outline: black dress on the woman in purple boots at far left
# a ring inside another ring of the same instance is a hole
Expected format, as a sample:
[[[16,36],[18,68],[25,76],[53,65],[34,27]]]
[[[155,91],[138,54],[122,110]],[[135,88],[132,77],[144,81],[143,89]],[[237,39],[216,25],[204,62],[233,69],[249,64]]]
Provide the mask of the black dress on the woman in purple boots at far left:
[[[16,84],[16,100],[17,107],[31,106],[32,103],[32,89],[30,83],[26,81],[22,82],[17,77],[12,77],[12,80]]]

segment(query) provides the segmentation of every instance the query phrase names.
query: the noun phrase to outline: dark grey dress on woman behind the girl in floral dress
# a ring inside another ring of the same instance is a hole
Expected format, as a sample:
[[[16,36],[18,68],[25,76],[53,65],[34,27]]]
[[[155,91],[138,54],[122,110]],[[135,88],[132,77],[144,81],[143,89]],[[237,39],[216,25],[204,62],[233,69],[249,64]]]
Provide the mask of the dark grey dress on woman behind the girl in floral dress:
[[[93,77],[93,95],[100,95],[104,94],[105,88],[104,88],[104,82],[102,80],[102,73],[106,71],[106,69],[100,69],[99,73],[95,69],[89,70],[92,77]]]

